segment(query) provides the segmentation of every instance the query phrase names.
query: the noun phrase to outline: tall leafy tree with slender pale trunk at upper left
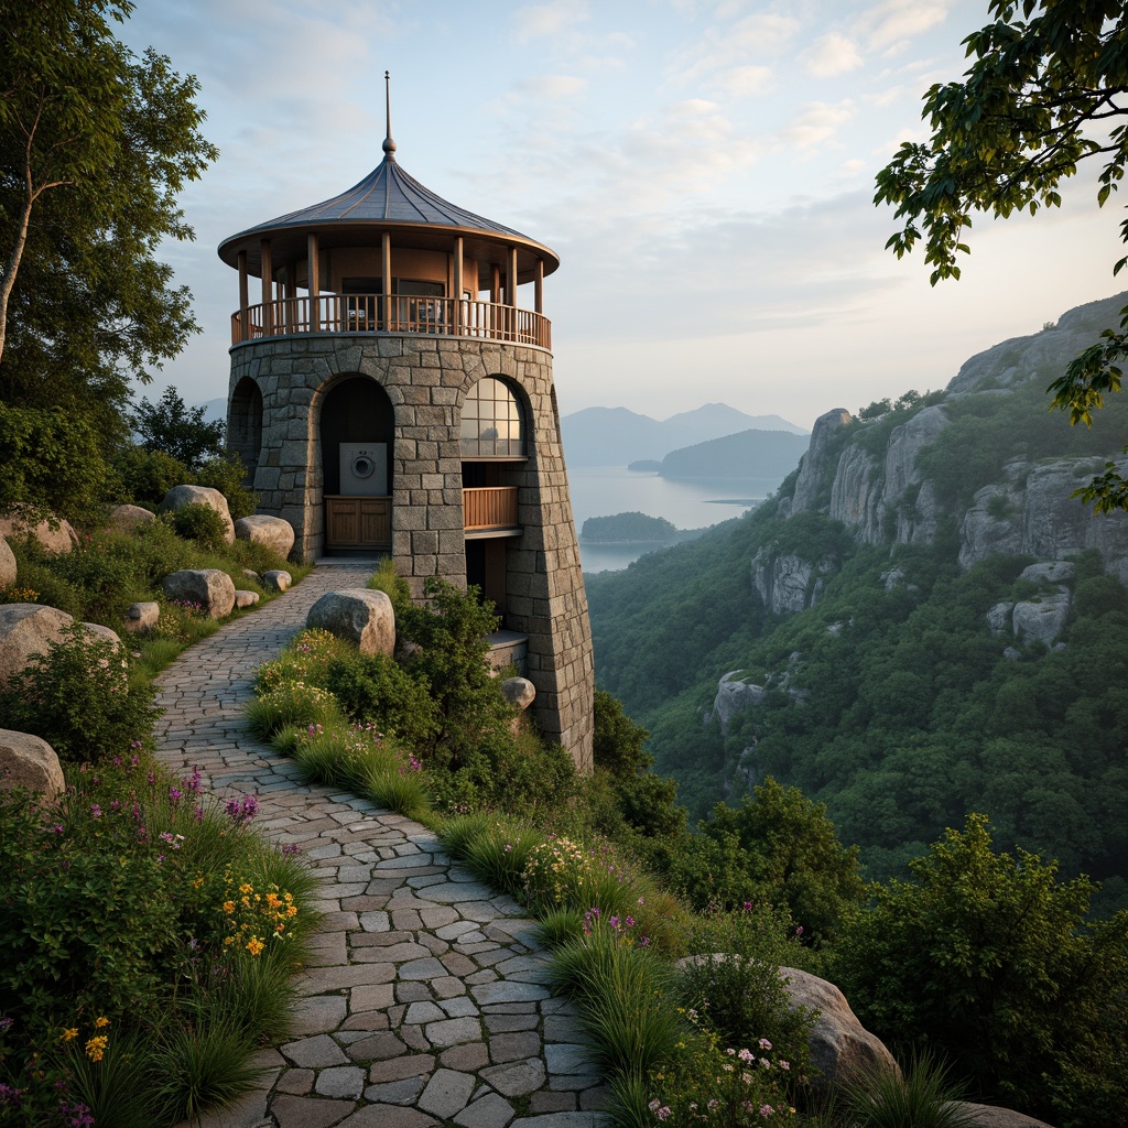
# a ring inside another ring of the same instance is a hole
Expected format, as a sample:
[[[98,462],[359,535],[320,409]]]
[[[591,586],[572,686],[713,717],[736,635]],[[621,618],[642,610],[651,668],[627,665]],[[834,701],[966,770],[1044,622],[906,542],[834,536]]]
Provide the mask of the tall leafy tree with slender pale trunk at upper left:
[[[131,379],[196,331],[157,261],[176,196],[218,156],[193,77],[135,56],[130,0],[0,0],[0,398],[124,433]]]

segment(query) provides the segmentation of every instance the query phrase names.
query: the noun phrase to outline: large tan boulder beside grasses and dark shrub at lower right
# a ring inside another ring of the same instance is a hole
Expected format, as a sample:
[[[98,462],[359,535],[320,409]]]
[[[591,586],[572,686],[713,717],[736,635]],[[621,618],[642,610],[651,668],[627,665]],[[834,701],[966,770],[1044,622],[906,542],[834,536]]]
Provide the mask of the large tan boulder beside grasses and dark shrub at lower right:
[[[811,1064],[821,1074],[816,1087],[848,1085],[879,1070],[900,1074],[892,1054],[857,1021],[846,996],[834,984],[797,968],[781,968],[779,978],[793,1007],[819,1012],[811,1031]]]

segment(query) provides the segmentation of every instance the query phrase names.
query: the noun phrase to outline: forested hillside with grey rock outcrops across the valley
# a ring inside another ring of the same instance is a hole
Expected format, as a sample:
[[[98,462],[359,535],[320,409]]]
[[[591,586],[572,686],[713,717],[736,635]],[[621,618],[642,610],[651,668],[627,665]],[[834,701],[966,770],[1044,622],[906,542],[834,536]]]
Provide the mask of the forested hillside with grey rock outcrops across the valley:
[[[884,876],[982,811],[1128,899],[1128,514],[1069,499],[1128,404],[1045,396],[1125,300],[827,413],[758,510],[588,578],[598,682],[693,816],[770,774]]]

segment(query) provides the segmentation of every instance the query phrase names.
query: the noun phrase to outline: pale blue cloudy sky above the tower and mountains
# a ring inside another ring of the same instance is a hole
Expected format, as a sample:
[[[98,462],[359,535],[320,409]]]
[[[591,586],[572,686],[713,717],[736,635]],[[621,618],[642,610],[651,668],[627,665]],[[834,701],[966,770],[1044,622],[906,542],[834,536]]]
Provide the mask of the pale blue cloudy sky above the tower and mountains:
[[[166,248],[203,333],[147,395],[227,394],[221,239],[381,158],[559,254],[545,285],[561,411],[724,402],[810,426],[1118,289],[1120,210],[984,218],[963,279],[883,250],[873,177],[925,136],[986,0],[140,0],[123,37],[195,74],[219,161]],[[519,303],[531,308],[531,294]]]

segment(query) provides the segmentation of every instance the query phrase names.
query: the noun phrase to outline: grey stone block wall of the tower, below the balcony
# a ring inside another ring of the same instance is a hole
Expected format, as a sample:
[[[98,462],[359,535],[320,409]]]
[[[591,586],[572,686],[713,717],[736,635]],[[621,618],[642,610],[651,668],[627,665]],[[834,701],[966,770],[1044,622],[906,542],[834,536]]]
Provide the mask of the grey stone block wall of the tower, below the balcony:
[[[395,412],[393,558],[416,598],[426,576],[466,584],[459,423],[469,388],[504,377],[520,389],[529,459],[511,466],[520,537],[506,546],[508,620],[529,636],[528,677],[541,731],[591,768],[594,668],[588,599],[544,350],[425,334],[302,334],[231,350],[231,391],[250,378],[263,396],[254,488],[261,511],[294,528],[294,553],[324,546],[320,413],[344,379],[376,380]]]

